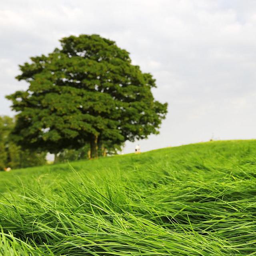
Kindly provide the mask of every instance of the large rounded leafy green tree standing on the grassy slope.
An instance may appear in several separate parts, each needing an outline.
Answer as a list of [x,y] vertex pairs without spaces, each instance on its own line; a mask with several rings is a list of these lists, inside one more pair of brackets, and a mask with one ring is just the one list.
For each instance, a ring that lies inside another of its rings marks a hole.
[[16,78],[29,88],[6,96],[19,112],[13,135],[20,145],[57,153],[89,142],[93,158],[104,141],[158,133],[167,104],[154,100],[154,78],[132,65],[126,50],[98,35],[60,42],[21,65]]

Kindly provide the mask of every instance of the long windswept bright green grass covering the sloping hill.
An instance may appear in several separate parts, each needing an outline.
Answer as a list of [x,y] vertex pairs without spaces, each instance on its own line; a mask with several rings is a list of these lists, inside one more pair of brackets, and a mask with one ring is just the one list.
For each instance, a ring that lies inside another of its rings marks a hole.
[[256,140],[0,172],[0,255],[256,255]]

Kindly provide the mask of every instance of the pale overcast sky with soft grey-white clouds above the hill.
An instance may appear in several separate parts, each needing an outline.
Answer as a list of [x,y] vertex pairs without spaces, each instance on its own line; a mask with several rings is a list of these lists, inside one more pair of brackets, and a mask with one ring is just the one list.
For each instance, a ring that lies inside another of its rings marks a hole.
[[[100,34],[151,72],[168,102],[160,134],[142,151],[214,139],[256,138],[256,1],[1,0],[0,115],[26,90],[18,64],[64,36]],[[126,143],[124,152],[133,152]]]

